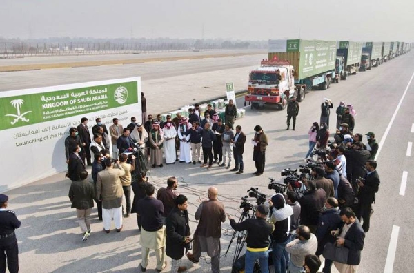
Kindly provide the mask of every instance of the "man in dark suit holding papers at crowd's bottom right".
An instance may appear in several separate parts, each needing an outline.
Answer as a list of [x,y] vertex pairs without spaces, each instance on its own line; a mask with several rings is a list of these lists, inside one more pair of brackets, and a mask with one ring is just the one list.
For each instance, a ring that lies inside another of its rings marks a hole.
[[339,272],[357,272],[361,262],[361,250],[364,247],[365,232],[351,208],[344,208],[339,213],[342,222],[337,230],[331,234],[338,236],[337,246],[348,248],[348,261],[345,263],[333,262]]

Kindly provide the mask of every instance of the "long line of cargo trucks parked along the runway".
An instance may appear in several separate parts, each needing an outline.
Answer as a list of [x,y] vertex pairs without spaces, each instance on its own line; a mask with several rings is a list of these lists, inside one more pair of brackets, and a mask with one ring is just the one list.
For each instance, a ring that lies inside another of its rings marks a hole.
[[284,110],[292,97],[303,101],[313,88],[326,90],[409,51],[411,43],[404,42],[269,40],[268,59],[250,72],[244,103],[251,108],[275,104]]

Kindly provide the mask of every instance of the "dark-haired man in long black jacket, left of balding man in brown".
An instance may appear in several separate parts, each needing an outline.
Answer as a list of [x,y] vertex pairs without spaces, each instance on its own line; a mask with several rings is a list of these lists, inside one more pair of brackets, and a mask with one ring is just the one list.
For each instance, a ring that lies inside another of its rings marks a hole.
[[184,256],[184,249],[190,243],[190,227],[188,225],[187,197],[180,194],[175,199],[175,208],[166,219],[166,254],[171,257],[171,272],[184,272],[186,266],[179,266]]

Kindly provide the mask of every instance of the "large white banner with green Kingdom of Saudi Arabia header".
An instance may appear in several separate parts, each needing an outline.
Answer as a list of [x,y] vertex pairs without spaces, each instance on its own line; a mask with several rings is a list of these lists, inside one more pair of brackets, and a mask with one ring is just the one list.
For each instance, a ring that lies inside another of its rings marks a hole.
[[0,92],[0,117],[5,192],[66,171],[64,141],[82,117],[88,118],[91,138],[98,117],[108,130],[115,117],[124,127],[130,117],[141,121],[141,78]]

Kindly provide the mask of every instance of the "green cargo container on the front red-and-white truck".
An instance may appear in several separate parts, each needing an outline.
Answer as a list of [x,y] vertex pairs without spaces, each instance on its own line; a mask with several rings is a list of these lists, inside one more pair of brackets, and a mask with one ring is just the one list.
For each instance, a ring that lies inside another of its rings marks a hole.
[[336,41],[293,39],[268,43],[268,60],[288,61],[295,68],[295,80],[335,70],[335,59]]

